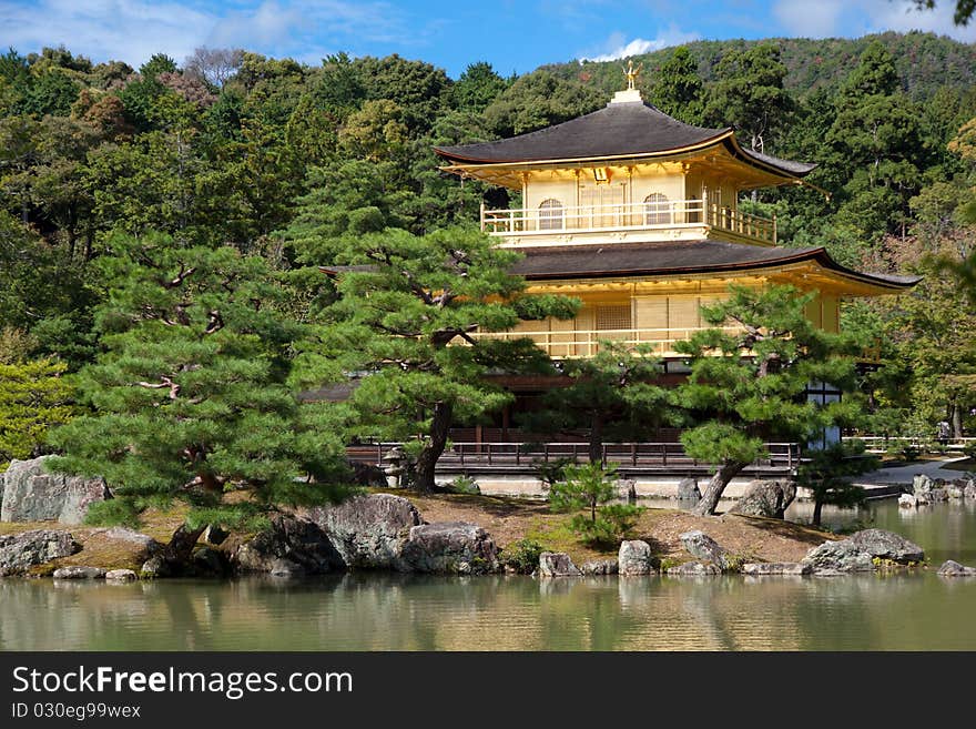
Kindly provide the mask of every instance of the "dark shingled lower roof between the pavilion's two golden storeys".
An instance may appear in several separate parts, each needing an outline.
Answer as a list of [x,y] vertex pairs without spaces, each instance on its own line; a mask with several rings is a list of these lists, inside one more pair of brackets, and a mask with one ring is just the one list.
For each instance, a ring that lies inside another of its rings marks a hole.
[[511,273],[528,281],[748,271],[810,260],[887,287],[906,287],[922,280],[845,269],[823,247],[760,247],[714,240],[535,247],[522,252],[526,257],[516,263]]

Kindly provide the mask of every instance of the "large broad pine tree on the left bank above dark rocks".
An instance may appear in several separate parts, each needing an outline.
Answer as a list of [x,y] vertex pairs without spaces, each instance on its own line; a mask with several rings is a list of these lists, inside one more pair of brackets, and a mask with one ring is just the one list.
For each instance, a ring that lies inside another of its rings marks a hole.
[[263,260],[162,237],[111,246],[99,260],[103,352],[79,374],[94,414],[52,437],[65,453],[54,468],[104,476],[115,495],[90,517],[134,523],[185,502],[192,544],[210,523],[253,525],[278,506],[338,498],[335,408],[295,396],[304,330],[276,308],[285,292]]

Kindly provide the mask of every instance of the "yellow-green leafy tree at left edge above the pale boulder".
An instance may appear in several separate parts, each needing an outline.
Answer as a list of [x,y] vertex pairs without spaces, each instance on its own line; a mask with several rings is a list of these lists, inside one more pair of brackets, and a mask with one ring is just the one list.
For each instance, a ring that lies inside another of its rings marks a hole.
[[0,470],[12,458],[43,453],[49,431],[74,415],[74,389],[64,372],[62,363],[0,352]]

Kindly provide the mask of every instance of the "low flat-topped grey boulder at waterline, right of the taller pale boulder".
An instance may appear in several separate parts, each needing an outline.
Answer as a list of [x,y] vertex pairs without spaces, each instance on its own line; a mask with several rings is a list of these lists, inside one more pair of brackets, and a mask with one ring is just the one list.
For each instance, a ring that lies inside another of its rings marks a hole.
[[421,524],[410,529],[403,557],[418,573],[478,575],[498,571],[498,548],[481,527],[464,522]]

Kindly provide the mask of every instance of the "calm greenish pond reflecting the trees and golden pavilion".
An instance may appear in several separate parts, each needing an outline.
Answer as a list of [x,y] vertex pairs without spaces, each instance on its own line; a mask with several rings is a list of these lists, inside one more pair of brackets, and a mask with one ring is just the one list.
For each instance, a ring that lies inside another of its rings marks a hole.
[[[807,504],[791,509],[809,518]],[[0,580],[2,650],[976,650],[976,503],[827,512],[931,568],[832,578]]]

